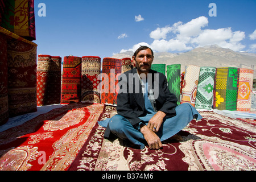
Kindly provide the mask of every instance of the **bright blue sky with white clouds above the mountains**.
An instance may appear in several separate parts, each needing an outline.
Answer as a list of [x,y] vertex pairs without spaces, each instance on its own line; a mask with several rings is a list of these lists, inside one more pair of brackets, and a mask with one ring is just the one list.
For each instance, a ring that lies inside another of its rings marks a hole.
[[101,59],[143,43],[155,52],[218,44],[256,53],[255,9],[255,0],[35,0],[35,43],[40,54]]

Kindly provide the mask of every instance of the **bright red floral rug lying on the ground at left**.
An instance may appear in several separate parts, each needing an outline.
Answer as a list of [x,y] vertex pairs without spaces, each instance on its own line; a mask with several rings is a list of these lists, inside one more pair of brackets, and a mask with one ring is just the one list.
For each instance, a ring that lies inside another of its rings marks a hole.
[[73,103],[0,133],[0,170],[64,171],[104,109]]

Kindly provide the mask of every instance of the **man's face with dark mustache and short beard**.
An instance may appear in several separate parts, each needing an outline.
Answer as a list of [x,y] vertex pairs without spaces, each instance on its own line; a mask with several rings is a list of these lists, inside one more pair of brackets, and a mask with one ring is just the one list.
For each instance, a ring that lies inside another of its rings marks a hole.
[[151,68],[154,56],[150,49],[139,51],[137,56],[133,56],[133,61],[136,62],[137,69],[140,73],[148,72]]

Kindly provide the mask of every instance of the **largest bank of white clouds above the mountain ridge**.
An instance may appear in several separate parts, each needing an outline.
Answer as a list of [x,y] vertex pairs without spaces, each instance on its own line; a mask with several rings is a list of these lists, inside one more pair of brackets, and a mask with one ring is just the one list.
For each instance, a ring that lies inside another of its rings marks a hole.
[[[176,22],[172,26],[158,27],[150,32],[150,38],[154,39],[150,46],[158,52],[189,51],[196,47],[214,44],[233,51],[242,51],[245,48],[241,44],[241,40],[245,39],[245,32],[232,31],[230,27],[205,29],[207,26],[208,18],[200,16],[187,23]],[[250,35],[250,39],[256,39],[256,30]],[[135,51],[136,45],[129,51]]]

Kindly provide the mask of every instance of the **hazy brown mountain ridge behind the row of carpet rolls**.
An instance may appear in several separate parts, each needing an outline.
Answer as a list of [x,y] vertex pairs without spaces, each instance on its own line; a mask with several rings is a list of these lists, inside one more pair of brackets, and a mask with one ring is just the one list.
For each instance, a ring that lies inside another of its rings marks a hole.
[[[112,57],[122,59],[132,56],[133,51],[127,51],[117,53]],[[254,69],[254,78],[256,78],[256,53],[235,52],[217,45],[197,47],[191,51],[180,53],[156,52],[153,64],[181,64],[181,72],[187,65],[249,68]]]

